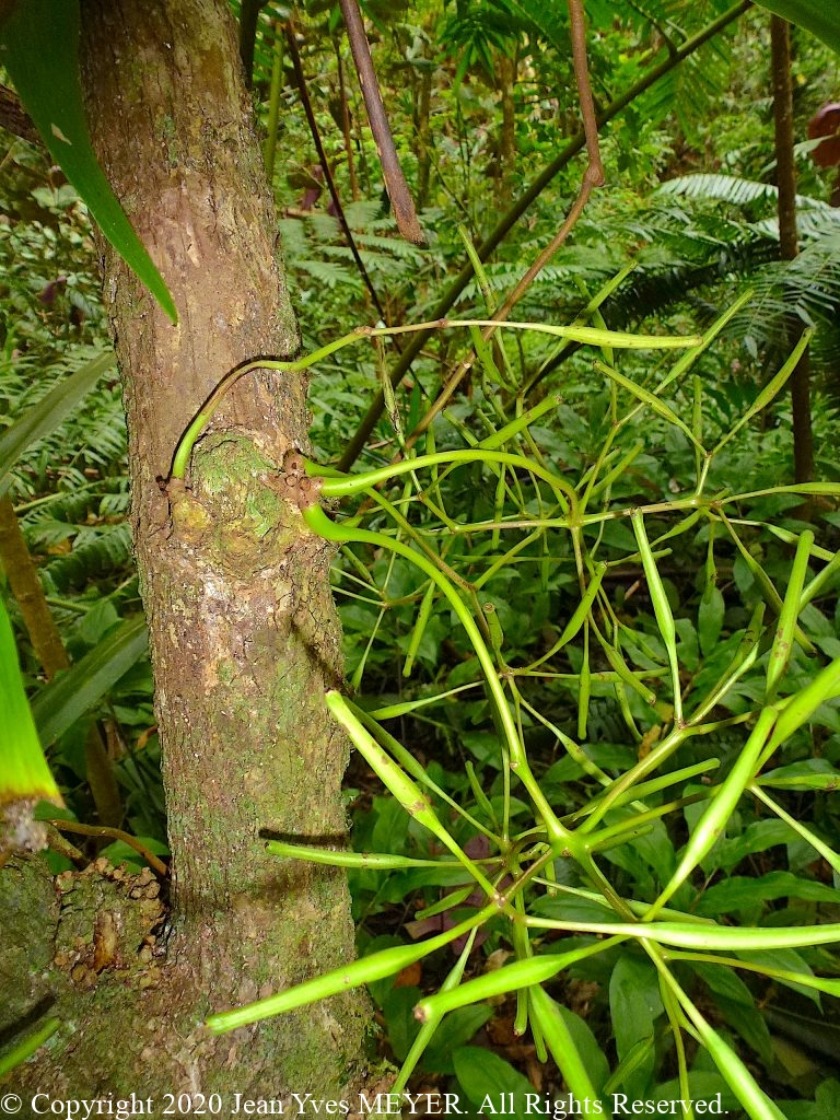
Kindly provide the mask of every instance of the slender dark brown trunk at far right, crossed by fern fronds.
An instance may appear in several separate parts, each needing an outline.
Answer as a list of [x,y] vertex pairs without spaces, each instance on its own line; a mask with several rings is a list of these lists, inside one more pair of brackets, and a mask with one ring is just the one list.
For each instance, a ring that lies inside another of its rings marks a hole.
[[[792,261],[799,253],[796,230],[796,167],[793,156],[793,86],[791,84],[791,25],[780,16],[771,16],[773,54],[773,123],[776,149],[776,186],[778,187],[778,242],[782,260]],[[804,327],[796,316],[788,319],[791,348]],[[808,351],[791,375],[791,409],[793,412],[794,478],[811,482],[814,475],[814,442],[811,430],[811,386]]]

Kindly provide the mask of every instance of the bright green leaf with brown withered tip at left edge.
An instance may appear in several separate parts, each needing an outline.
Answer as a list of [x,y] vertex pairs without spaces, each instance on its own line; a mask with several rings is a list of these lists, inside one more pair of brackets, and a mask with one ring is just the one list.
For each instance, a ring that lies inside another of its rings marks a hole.
[[2,711],[2,781],[0,802],[54,801],[62,795],[49,772],[20,676],[18,651],[9,616],[0,599],[0,711]]

